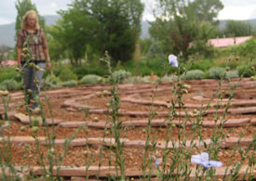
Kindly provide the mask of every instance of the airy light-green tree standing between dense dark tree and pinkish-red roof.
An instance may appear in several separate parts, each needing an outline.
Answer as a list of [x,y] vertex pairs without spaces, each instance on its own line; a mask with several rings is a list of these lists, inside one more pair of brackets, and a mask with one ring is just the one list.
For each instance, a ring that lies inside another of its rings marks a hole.
[[[222,9],[220,0],[158,0],[160,14],[152,23],[151,35],[164,52],[187,58],[192,46],[207,44],[214,32],[214,18]],[[208,9],[208,10],[207,10]]]

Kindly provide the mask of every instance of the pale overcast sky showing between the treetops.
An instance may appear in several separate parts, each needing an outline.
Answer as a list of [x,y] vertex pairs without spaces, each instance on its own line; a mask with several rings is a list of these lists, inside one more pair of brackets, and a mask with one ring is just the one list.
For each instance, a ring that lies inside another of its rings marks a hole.
[[[152,8],[155,0],[141,0],[145,3],[143,19],[153,19]],[[0,0],[0,24],[15,21],[17,0]],[[67,9],[72,0],[32,0],[40,15],[56,15],[56,11]],[[256,0],[222,0],[224,8],[218,19],[256,19]]]

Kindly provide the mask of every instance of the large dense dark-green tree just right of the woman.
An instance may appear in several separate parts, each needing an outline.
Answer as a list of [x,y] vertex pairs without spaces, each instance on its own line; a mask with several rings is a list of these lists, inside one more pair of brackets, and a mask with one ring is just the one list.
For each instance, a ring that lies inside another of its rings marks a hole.
[[88,53],[103,54],[126,61],[132,58],[141,32],[141,0],[74,0],[68,10],[60,11],[62,20],[51,33],[65,43],[72,62]]

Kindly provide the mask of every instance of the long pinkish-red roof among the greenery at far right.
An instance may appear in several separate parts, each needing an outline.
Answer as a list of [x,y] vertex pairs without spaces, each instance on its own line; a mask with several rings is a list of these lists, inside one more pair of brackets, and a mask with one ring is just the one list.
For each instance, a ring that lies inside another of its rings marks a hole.
[[252,36],[209,39],[209,44],[215,47],[227,47],[229,45],[239,45],[245,43],[251,38]]

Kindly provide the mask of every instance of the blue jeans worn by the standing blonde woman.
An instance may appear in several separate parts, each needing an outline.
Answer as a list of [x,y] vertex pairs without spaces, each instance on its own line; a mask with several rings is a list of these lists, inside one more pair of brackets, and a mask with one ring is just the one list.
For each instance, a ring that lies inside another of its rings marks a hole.
[[[45,70],[46,63],[45,62],[39,62],[35,63],[36,66],[38,66],[40,69]],[[34,68],[30,66],[26,66],[23,69],[24,71],[24,85],[25,85],[25,102],[29,105],[31,104],[31,100],[34,100],[34,104],[32,108],[37,107],[37,103],[39,102],[40,97],[40,88],[41,88],[41,82],[42,78],[44,76],[44,71],[35,71]],[[31,91],[28,91],[28,90]],[[38,97],[38,100],[36,100],[35,97]]]

